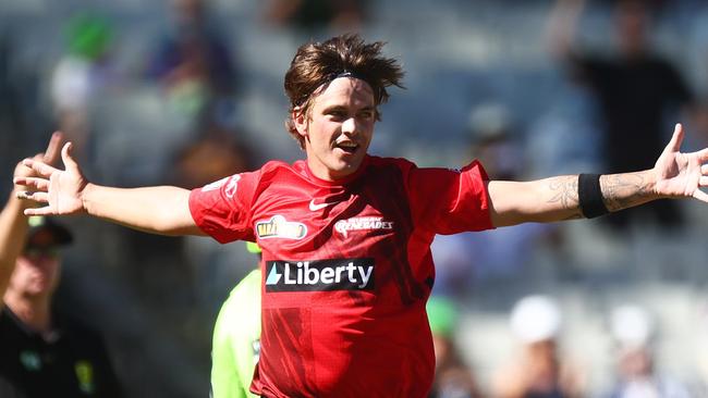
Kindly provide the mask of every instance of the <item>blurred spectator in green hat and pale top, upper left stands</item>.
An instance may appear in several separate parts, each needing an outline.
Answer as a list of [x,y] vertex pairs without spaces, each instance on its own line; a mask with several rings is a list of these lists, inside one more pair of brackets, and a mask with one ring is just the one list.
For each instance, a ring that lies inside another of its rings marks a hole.
[[53,70],[51,99],[61,129],[83,157],[89,139],[91,101],[115,78],[110,62],[113,29],[108,20],[90,13],[64,26],[66,52]]

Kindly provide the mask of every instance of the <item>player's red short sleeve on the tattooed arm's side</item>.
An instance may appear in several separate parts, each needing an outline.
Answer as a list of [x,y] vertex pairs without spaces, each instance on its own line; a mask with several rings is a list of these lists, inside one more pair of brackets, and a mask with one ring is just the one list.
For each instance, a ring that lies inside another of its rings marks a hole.
[[478,161],[462,170],[417,169],[408,174],[414,223],[434,234],[493,228],[487,173]]

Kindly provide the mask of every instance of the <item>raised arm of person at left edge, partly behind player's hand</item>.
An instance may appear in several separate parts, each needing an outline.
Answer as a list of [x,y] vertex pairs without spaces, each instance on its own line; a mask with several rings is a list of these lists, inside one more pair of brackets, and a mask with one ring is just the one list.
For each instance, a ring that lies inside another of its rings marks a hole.
[[[59,158],[59,148],[61,146],[62,135],[54,133],[49,140],[49,146],[44,154],[37,154],[35,160],[45,161],[49,164]],[[16,177],[34,177],[36,173],[19,163],[15,166],[14,175]],[[23,187],[15,185],[5,207],[0,212],[0,308],[4,304],[4,296],[10,283],[10,275],[15,268],[15,261],[25,246],[27,236],[27,216],[25,210],[33,206],[29,201],[20,200],[17,195],[24,190]]]

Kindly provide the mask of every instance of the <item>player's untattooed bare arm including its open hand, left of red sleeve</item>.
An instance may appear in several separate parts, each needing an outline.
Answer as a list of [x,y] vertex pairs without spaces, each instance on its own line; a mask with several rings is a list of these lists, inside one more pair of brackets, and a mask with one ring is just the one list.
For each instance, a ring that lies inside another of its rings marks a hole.
[[19,194],[46,204],[25,210],[27,215],[89,214],[135,229],[160,235],[204,235],[188,208],[187,189],[159,186],[112,188],[91,184],[71,156],[71,142],[61,150],[65,170],[33,159],[23,163],[37,177],[15,176],[17,185],[32,191]]

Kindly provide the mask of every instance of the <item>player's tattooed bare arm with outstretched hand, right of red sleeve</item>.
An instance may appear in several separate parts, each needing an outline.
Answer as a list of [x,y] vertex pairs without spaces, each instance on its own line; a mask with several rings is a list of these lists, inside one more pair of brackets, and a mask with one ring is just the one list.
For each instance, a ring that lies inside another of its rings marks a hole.
[[676,124],[671,141],[654,169],[601,175],[595,196],[587,185],[584,187],[587,194],[578,195],[578,175],[526,183],[488,182],[492,224],[505,226],[585,217],[591,215],[586,214],[588,204],[590,210],[598,208],[599,203],[591,202],[594,198],[601,200],[611,212],[655,199],[695,198],[708,202],[708,195],[700,190],[708,187],[708,148],[682,153],[683,136],[683,127]]

